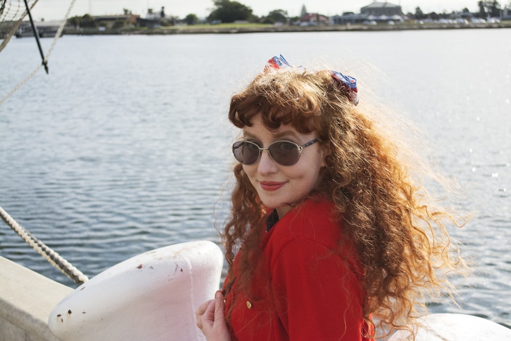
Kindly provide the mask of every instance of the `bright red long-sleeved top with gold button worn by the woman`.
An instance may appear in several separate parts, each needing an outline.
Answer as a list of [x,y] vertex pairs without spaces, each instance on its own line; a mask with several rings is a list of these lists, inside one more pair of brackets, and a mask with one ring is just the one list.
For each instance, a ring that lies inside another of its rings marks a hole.
[[[308,200],[261,240],[250,297],[236,282],[226,297],[233,340],[368,341],[362,313],[362,267],[333,204]],[[236,274],[236,261],[235,261]]]

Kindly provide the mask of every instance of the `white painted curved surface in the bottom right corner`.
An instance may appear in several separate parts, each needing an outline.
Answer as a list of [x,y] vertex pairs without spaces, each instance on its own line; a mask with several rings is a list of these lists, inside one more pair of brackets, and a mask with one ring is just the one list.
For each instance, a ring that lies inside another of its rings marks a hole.
[[[505,341],[511,340],[511,329],[481,317],[465,314],[431,314],[423,317],[415,341]],[[400,330],[388,341],[411,341],[408,332]]]

